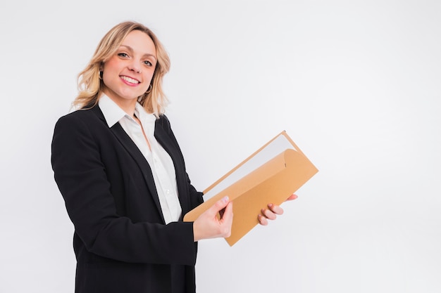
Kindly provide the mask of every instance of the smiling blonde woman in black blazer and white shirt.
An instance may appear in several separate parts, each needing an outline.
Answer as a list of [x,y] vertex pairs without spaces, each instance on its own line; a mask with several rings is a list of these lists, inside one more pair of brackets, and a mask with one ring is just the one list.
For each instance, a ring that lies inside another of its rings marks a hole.
[[[163,115],[169,67],[151,30],[120,23],[79,74],[80,110],[56,123],[51,162],[75,226],[77,293],[195,292],[197,241],[230,235],[228,197],[182,221],[203,200]],[[276,214],[268,205],[259,221]]]

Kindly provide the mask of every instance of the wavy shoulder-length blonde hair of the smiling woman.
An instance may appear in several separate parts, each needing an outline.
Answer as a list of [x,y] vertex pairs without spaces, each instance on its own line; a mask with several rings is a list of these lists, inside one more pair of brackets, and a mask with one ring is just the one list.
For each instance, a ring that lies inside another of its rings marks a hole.
[[139,96],[138,101],[147,112],[154,113],[156,117],[163,114],[168,100],[162,89],[162,80],[170,69],[170,58],[159,39],[148,27],[131,21],[121,22],[109,30],[99,42],[89,64],[78,74],[79,93],[73,101],[75,108],[92,108],[97,105],[102,93],[102,85],[104,85],[99,77],[100,68],[116,53],[125,37],[134,30],[144,32],[151,38],[156,47],[157,57],[155,71],[151,79],[151,91]]

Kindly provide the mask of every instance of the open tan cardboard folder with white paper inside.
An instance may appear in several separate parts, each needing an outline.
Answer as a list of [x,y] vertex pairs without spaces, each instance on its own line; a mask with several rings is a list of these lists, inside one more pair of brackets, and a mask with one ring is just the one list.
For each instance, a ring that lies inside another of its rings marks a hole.
[[268,141],[230,172],[204,190],[203,204],[184,216],[194,221],[216,201],[228,195],[233,204],[230,246],[259,223],[257,216],[267,204],[282,204],[318,169],[292,141],[286,131]]

